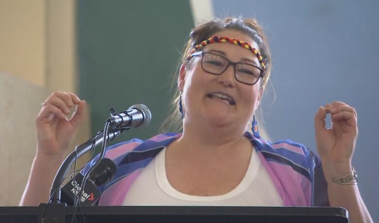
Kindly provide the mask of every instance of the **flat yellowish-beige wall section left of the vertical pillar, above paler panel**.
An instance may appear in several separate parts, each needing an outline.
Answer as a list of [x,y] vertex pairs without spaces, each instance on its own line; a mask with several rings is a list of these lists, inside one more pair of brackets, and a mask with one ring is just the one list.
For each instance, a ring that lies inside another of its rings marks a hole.
[[45,0],[0,0],[0,70],[45,86]]

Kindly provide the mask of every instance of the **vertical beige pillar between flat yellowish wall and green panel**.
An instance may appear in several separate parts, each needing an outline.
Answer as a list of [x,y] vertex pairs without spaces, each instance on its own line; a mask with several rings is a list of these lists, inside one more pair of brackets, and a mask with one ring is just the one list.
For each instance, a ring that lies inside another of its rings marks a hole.
[[46,86],[77,92],[75,0],[47,0]]

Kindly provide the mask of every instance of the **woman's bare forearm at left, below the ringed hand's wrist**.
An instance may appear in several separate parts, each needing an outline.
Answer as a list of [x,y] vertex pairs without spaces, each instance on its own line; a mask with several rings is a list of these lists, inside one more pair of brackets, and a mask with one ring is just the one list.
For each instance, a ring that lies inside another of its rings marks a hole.
[[22,194],[20,206],[38,206],[49,199],[50,189],[55,173],[58,171],[63,156],[45,156],[37,154],[34,157],[29,180]]

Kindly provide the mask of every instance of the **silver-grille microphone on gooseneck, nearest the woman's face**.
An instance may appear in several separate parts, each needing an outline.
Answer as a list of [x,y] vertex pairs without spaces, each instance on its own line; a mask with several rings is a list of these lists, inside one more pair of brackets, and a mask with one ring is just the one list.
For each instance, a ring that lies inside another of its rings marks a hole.
[[108,119],[109,128],[114,127],[136,127],[145,128],[151,121],[151,112],[143,104],[132,105],[128,110],[119,114],[115,113]]

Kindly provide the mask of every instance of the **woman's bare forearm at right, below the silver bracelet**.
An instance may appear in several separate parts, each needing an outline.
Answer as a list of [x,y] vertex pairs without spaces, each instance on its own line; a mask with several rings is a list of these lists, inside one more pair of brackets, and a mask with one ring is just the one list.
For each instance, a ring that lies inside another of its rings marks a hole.
[[350,223],[372,223],[357,185],[329,183],[327,187],[330,206],[344,207],[349,212]]

